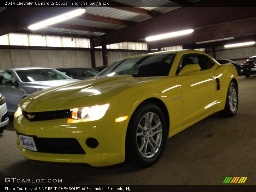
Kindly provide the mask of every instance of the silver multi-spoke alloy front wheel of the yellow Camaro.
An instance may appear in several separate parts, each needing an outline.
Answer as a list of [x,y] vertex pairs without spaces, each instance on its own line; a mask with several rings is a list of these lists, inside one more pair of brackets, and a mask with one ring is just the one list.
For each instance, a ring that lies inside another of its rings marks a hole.
[[153,113],[146,113],[137,127],[136,139],[140,154],[151,158],[158,152],[163,138],[163,129],[159,117]]

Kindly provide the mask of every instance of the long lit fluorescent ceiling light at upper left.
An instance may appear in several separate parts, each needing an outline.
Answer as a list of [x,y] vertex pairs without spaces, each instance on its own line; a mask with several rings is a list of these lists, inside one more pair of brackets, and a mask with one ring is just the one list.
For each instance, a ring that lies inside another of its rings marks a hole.
[[36,30],[36,29],[39,29],[39,28],[43,28],[43,27],[52,25],[54,23],[58,23],[58,22],[61,22],[61,21],[71,19],[73,17],[76,17],[78,15],[83,14],[84,12],[85,12],[85,9],[77,9],[75,11],[67,12],[67,13],[61,14],[59,16],[52,17],[50,19],[40,21],[38,23],[30,25],[28,28],[31,29],[31,30]]

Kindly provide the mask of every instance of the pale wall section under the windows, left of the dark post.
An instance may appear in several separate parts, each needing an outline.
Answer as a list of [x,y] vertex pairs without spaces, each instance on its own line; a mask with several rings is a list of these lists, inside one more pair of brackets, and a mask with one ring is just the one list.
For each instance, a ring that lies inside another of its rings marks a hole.
[[91,67],[90,51],[0,49],[2,69]]

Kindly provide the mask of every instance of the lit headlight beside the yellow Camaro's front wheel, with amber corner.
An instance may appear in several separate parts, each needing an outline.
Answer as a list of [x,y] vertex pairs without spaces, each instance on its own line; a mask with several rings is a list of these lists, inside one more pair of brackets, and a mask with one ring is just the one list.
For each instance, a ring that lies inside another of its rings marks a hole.
[[109,104],[71,109],[73,123],[99,120],[105,115],[108,107]]

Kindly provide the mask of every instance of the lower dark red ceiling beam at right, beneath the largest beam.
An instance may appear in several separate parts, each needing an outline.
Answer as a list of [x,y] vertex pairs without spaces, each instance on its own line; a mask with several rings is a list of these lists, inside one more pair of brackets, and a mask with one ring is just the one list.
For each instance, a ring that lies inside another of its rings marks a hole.
[[[256,17],[246,20],[238,20],[229,23],[223,23],[219,25],[209,26],[202,29],[194,31],[188,36],[180,36],[176,38],[170,38],[161,40],[158,42],[151,42],[150,48],[155,49],[158,47],[170,47],[175,45],[184,45],[184,44],[195,44],[196,42],[209,41],[214,39],[222,39],[228,37],[235,37],[235,40],[243,36],[253,36],[256,35]],[[222,43],[232,42],[230,41],[221,41]],[[220,42],[214,42],[215,44]],[[214,44],[212,43],[212,44]],[[195,47],[205,47],[206,44],[196,44]]]

